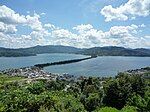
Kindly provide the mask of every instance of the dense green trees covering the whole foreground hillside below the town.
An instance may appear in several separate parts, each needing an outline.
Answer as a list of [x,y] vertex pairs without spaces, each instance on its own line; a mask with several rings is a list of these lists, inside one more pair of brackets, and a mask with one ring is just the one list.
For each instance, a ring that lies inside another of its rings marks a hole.
[[[146,73],[149,76],[149,73]],[[0,112],[149,112],[150,79],[113,78],[29,81],[0,75]]]

